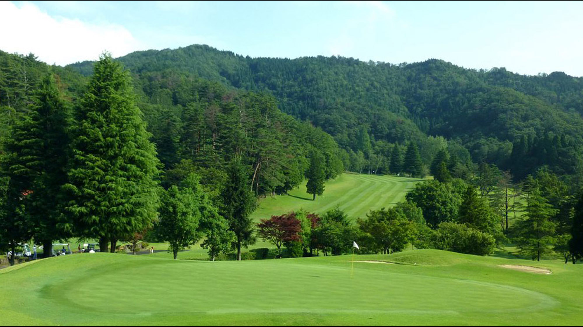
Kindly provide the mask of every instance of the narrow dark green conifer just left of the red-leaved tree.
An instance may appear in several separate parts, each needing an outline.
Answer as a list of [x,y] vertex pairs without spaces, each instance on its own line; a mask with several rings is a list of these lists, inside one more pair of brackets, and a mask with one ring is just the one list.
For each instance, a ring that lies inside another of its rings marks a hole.
[[257,198],[251,191],[245,166],[238,159],[230,163],[227,176],[220,214],[229,221],[229,229],[235,234],[232,246],[237,249],[237,260],[241,260],[241,247],[255,243],[255,224],[249,215],[257,208]]

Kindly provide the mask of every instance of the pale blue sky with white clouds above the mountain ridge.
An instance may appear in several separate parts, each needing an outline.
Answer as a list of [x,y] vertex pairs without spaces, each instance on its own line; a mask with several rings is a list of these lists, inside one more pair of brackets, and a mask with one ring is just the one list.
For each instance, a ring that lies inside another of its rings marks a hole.
[[49,64],[207,44],[252,57],[436,58],[583,76],[583,2],[0,1],[0,50]]

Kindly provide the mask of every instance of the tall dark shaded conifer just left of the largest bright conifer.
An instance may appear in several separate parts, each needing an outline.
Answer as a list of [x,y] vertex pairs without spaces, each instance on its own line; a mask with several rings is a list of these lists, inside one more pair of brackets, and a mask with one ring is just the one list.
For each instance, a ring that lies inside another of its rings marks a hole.
[[34,104],[12,127],[12,138],[6,144],[5,174],[11,197],[6,204],[12,205],[7,212],[12,218],[19,217],[18,225],[29,226],[24,234],[32,233],[35,241],[43,243],[44,257],[52,253],[52,240],[70,236],[61,214],[70,122],[69,106],[48,73]]

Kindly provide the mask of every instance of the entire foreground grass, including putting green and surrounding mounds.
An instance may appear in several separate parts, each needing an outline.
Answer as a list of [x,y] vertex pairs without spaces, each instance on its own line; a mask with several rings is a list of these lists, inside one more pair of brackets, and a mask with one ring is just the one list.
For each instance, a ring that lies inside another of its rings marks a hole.
[[437,250],[265,261],[78,254],[0,273],[2,325],[580,325],[583,265]]

